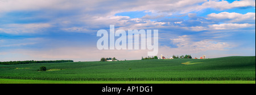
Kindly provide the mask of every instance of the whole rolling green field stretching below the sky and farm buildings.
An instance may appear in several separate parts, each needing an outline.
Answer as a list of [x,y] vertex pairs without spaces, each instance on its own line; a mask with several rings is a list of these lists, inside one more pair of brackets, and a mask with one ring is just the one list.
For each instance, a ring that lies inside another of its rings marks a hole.
[[[41,66],[46,66],[48,70],[44,72],[38,71]],[[232,56],[216,59],[152,59],[0,65],[0,79],[0,83],[11,83],[12,81],[15,83],[33,83],[32,81],[40,83],[40,80],[42,80],[41,83],[47,82],[50,84],[255,84],[255,56]]]

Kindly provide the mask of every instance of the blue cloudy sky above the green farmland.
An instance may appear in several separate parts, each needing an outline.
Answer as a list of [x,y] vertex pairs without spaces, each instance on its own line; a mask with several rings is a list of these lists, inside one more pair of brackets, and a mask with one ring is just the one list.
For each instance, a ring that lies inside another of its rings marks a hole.
[[97,49],[110,25],[158,30],[157,56],[255,56],[255,0],[0,0],[0,61],[147,57]]

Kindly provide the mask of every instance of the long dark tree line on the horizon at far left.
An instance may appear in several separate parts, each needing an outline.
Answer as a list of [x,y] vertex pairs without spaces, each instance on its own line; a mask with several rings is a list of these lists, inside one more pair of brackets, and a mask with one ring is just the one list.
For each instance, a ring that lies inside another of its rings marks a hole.
[[31,64],[31,63],[67,63],[67,62],[74,62],[73,60],[43,60],[43,61],[34,61],[34,60],[27,60],[27,61],[3,61],[0,64],[11,65],[11,64]]

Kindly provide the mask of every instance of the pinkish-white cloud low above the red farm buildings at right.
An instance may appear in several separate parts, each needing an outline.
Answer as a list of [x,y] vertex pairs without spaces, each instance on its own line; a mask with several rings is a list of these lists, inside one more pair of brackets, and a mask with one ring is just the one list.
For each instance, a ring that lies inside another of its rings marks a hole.
[[[175,55],[182,53],[198,53],[209,50],[218,50],[223,51],[227,50],[225,48],[232,47],[230,44],[225,42],[217,42],[215,40],[204,39],[195,41],[195,38],[189,35],[178,36],[178,38],[170,39],[172,43],[176,44],[177,48],[169,48],[169,47],[160,47],[166,52],[171,52]],[[159,51],[159,53],[164,53],[163,51]],[[170,55],[170,54],[169,54]]]

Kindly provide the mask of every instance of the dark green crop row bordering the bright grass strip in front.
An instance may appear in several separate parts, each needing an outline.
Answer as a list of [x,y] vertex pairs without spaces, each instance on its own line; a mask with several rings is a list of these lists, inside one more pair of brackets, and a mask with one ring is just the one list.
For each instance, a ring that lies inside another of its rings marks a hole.
[[0,77],[0,79],[51,80],[51,81],[255,81],[255,77],[175,77],[175,78],[82,78],[82,77]]

